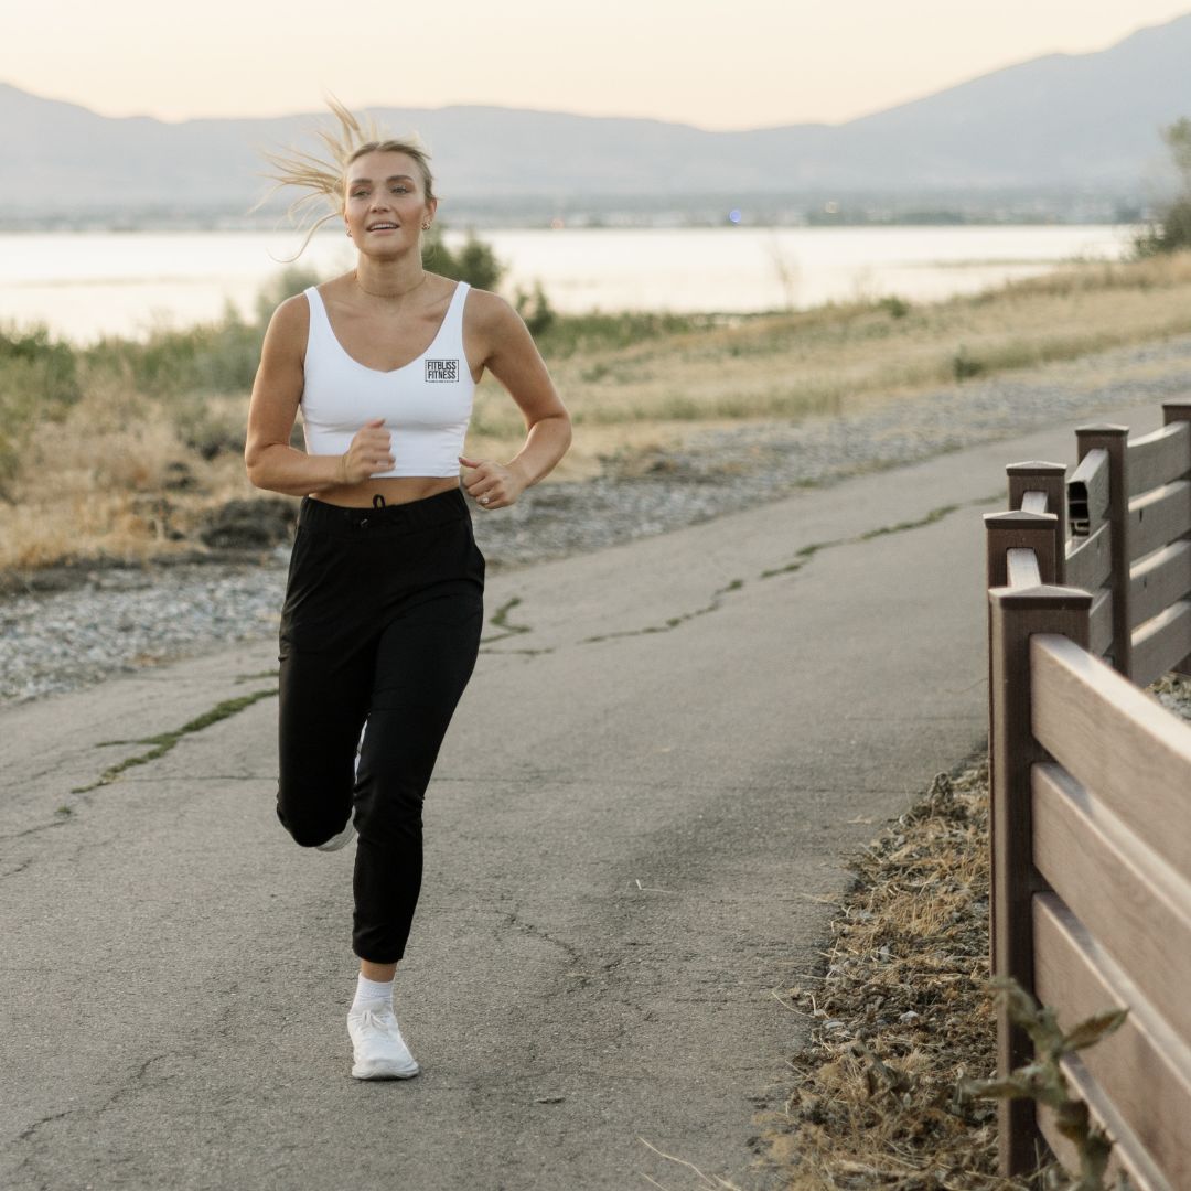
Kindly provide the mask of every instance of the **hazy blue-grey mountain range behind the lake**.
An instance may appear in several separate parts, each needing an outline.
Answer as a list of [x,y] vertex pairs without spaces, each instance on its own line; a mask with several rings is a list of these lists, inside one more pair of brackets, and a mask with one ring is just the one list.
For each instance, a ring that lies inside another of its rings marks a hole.
[[[1065,195],[1143,207],[1166,158],[1160,130],[1191,116],[1191,13],[838,125],[713,132],[481,106],[373,114],[422,135],[439,192],[468,211],[678,210],[706,197],[904,207]],[[266,189],[260,150],[311,148],[324,119],[111,118],[0,83],[0,219],[242,217]]]

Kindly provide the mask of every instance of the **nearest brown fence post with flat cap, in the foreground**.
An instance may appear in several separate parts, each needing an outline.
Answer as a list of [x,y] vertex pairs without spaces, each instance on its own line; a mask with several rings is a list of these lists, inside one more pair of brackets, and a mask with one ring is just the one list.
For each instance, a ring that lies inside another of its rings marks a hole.
[[[1031,902],[1045,888],[1034,868],[1030,772],[1047,754],[1034,740],[1030,699],[1030,637],[1059,632],[1087,648],[1092,597],[1074,587],[1009,587],[989,592],[990,643],[990,930],[992,971],[1034,989]],[[1004,1008],[997,1016],[997,1074],[1008,1075],[1031,1058],[1029,1036]],[[1033,1100],[999,1102],[1003,1174],[1036,1168],[1040,1134]]]

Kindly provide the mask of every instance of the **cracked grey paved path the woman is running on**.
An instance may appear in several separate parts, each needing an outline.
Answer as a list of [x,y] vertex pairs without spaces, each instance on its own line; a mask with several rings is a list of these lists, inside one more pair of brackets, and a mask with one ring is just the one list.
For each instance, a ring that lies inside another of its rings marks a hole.
[[813,968],[841,858],[980,744],[979,515],[1006,462],[1073,450],[494,580],[426,802],[409,1084],[348,1073],[351,858],[276,824],[275,700],[176,734],[267,692],[272,642],[0,713],[0,1185],[698,1184],[650,1146],[763,1185],[750,1118],[803,1028],[771,990]]

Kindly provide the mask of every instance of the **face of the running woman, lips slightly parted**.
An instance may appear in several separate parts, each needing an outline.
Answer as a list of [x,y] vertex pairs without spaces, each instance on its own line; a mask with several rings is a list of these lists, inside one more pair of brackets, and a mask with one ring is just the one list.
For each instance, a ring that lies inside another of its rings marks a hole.
[[417,245],[437,199],[426,202],[418,163],[404,152],[369,152],[348,167],[343,218],[362,252],[389,252]]

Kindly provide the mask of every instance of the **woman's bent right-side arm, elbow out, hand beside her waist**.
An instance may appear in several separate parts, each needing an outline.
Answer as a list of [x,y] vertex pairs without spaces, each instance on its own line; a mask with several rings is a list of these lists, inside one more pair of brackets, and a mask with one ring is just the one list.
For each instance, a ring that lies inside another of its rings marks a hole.
[[485,347],[484,366],[517,403],[525,418],[525,443],[507,463],[460,456],[473,468],[464,476],[468,493],[484,509],[513,504],[531,484],[549,475],[570,445],[570,416],[550,380],[545,362],[522,317],[503,298],[473,291],[476,330]]

